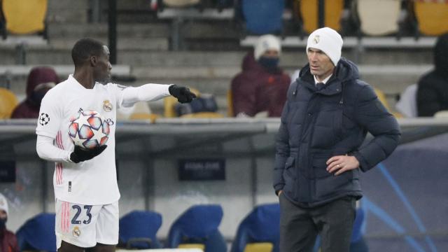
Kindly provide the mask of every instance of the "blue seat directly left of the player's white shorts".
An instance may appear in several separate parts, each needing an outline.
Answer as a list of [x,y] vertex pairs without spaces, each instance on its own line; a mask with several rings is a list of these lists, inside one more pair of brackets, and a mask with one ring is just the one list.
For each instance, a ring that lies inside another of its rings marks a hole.
[[56,251],[55,214],[38,214],[16,232],[20,251]]

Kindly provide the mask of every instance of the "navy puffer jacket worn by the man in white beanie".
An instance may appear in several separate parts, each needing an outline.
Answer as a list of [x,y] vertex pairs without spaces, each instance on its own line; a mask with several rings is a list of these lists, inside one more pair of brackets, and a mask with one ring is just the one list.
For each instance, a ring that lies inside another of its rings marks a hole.
[[[325,162],[353,155],[366,172],[398,145],[397,121],[358,78],[355,64],[341,58],[323,89],[316,89],[309,65],[290,85],[276,136],[274,189],[295,204],[316,207],[346,195],[360,198],[359,169],[334,176]],[[374,138],[361,147],[367,132]]]

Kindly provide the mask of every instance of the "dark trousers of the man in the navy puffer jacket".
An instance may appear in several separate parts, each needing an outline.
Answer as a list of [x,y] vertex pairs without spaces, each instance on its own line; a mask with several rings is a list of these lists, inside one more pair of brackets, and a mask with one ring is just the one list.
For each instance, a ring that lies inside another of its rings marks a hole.
[[280,197],[280,252],[311,252],[321,235],[322,252],[349,252],[356,200],[343,197],[320,207],[302,208]]

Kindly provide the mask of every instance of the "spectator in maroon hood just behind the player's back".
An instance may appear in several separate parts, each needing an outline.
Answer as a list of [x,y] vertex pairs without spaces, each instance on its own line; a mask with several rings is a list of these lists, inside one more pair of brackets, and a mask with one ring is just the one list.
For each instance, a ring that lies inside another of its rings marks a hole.
[[27,80],[27,99],[18,104],[11,118],[38,118],[43,96],[59,83],[54,69],[36,66],[29,72]]

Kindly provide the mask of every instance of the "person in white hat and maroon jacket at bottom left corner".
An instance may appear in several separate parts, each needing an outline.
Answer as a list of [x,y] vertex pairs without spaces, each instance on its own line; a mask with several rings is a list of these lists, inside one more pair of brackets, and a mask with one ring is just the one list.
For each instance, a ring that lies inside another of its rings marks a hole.
[[8,221],[8,201],[0,193],[0,249],[2,252],[18,252],[17,238],[13,232],[6,229]]

